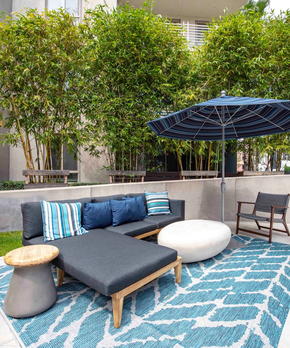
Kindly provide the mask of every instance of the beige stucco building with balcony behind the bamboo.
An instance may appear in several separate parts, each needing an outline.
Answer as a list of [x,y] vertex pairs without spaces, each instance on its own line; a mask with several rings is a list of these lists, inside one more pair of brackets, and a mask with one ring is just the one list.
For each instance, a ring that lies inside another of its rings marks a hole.
[[[94,8],[97,5],[106,5],[109,9],[116,6],[124,6],[126,3],[134,7],[142,6],[143,0],[1,0],[0,12],[4,11],[8,16],[14,12],[21,12],[22,8],[36,8],[39,12],[45,9],[66,8],[78,21],[81,21],[86,8]],[[246,0],[155,0],[154,11],[162,17],[171,19],[180,26],[180,30],[189,42],[189,46],[201,45],[203,31],[207,30],[206,23],[213,17],[227,11],[234,12],[245,5]],[[7,132],[1,128],[0,133]],[[106,165],[104,158],[91,157],[83,149],[79,149],[80,158],[74,163],[72,158],[63,150],[63,169],[73,171],[71,181],[78,182],[109,182],[109,176],[103,169]],[[166,159],[166,157],[165,157]],[[167,161],[169,163],[169,160]],[[19,147],[0,147],[0,182],[3,180],[23,180],[22,170],[26,168],[23,149]],[[167,163],[166,163],[167,165]],[[165,167],[166,167],[165,165]],[[165,168],[166,170],[166,168]]]

